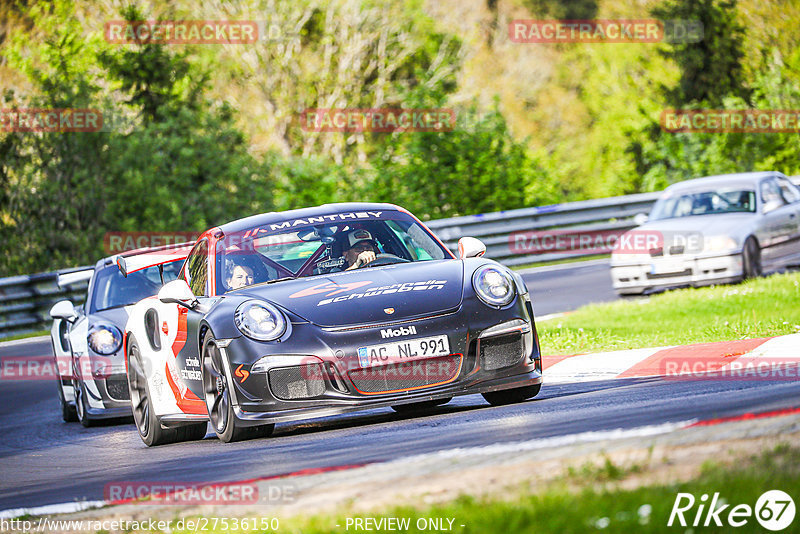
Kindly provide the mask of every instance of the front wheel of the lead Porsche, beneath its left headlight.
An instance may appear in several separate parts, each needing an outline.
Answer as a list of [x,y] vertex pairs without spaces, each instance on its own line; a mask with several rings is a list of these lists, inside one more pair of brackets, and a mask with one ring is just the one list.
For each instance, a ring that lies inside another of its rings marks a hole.
[[203,398],[208,410],[211,428],[220,441],[230,443],[246,439],[264,438],[272,434],[274,424],[242,426],[233,411],[230,381],[222,361],[222,352],[209,332],[203,341]]

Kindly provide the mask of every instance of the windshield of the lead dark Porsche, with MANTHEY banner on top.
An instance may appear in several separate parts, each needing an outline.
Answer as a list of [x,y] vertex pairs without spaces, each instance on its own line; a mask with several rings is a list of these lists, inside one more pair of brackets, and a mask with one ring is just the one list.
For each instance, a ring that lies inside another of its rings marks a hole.
[[[450,257],[412,217],[378,213],[354,221],[269,224],[225,236],[217,243],[217,287],[226,292],[281,279]],[[369,262],[358,262],[362,253],[372,253],[364,256]]]

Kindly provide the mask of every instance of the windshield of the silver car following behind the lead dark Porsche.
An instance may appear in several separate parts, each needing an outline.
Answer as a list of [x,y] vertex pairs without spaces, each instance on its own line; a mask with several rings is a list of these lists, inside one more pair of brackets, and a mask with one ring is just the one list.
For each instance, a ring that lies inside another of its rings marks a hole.
[[[175,280],[182,265],[183,259],[165,263],[164,283]],[[116,265],[109,265],[95,274],[91,313],[136,304],[155,295],[160,288],[161,275],[157,266],[130,273],[125,278]]]

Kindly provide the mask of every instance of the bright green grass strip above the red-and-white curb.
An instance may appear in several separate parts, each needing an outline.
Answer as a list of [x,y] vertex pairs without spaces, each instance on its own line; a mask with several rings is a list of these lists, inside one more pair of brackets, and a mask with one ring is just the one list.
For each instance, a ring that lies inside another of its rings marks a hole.
[[538,325],[543,354],[687,345],[800,332],[800,273],[592,304]]

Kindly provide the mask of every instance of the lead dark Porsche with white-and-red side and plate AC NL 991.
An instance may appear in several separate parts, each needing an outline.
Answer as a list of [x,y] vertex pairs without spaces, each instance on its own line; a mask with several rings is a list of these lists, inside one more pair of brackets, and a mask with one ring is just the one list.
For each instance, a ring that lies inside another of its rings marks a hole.
[[134,419],[147,445],[234,441],[276,422],[398,411],[542,382],[522,278],[462,238],[459,258],[391,204],[266,213],[203,233],[181,276],[125,328]]

